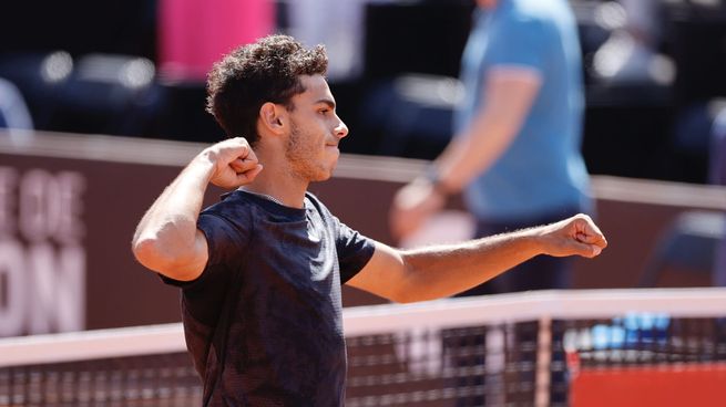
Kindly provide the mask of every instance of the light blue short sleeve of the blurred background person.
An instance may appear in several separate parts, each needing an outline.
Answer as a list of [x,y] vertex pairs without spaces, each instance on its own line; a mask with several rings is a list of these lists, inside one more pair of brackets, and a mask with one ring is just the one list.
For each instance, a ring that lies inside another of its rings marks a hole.
[[542,71],[551,43],[551,32],[542,21],[523,15],[508,15],[490,33],[489,66],[524,65]]

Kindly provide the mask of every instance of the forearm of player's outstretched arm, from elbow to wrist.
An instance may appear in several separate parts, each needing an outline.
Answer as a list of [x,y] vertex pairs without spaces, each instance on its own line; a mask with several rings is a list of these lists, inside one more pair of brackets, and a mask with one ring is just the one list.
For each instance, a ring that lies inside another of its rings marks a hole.
[[450,296],[543,253],[535,229],[402,252],[408,268],[405,302]]

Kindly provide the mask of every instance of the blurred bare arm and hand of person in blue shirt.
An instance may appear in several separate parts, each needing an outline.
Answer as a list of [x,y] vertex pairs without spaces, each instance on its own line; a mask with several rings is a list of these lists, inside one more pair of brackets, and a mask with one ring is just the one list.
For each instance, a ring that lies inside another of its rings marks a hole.
[[514,140],[542,83],[538,70],[526,66],[499,66],[487,74],[485,102],[471,124],[453,137],[433,163],[436,185],[419,177],[393,198],[391,231],[401,238],[441,209],[447,195],[459,192],[485,171]]

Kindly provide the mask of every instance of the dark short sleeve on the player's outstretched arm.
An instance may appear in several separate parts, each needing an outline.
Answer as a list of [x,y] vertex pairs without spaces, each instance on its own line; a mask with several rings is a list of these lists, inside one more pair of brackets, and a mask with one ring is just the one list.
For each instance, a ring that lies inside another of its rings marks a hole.
[[336,249],[340,264],[340,284],[345,284],[368,264],[376,251],[376,243],[339,220],[336,219],[336,221],[338,223]]

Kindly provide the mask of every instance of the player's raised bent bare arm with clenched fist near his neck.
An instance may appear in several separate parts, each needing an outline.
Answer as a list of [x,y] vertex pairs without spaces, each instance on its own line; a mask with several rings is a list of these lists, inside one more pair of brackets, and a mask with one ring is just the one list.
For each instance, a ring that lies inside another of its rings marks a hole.
[[208,259],[206,238],[196,227],[208,184],[236,188],[250,182],[260,170],[254,152],[242,137],[204,149],[139,222],[132,241],[136,260],[174,280],[196,279]]

